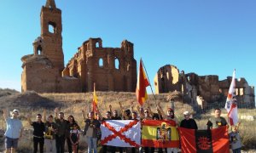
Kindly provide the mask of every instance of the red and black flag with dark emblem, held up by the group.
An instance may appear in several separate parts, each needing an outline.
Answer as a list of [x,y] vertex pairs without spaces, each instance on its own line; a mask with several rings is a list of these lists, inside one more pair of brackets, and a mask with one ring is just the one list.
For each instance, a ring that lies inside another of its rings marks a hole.
[[195,130],[178,127],[183,153],[229,153],[228,127],[211,130]]

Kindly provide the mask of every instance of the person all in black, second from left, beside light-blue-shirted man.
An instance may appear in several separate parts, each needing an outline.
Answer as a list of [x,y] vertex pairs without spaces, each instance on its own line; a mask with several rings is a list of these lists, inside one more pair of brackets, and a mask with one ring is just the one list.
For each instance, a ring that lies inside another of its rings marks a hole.
[[34,153],[38,152],[38,144],[40,153],[44,152],[44,122],[42,122],[41,114],[37,115],[37,121],[32,122],[31,116],[27,116],[27,122],[34,128],[33,131],[33,146],[34,146]]

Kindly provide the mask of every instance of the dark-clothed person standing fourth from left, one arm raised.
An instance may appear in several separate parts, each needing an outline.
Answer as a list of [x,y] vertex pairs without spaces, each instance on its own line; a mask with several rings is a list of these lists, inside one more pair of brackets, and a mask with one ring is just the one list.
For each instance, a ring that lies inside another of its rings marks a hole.
[[57,150],[56,152],[64,153],[65,138],[66,138],[68,124],[67,124],[67,120],[64,119],[64,113],[59,112],[57,108],[55,109],[55,123],[57,125],[57,129],[55,133],[56,150]]

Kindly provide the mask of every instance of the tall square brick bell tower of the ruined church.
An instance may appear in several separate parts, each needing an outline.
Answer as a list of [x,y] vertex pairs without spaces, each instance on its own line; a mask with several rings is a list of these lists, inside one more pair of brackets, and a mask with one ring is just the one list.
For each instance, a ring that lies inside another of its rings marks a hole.
[[56,8],[55,0],[47,0],[41,9],[41,38],[44,42],[42,53],[61,71],[64,69],[62,50],[61,9]]

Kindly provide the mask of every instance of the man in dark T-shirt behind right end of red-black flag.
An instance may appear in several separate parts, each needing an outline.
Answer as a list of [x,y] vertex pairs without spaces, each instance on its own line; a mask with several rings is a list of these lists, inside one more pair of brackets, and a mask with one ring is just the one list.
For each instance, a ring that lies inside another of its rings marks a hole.
[[216,108],[214,110],[214,116],[209,118],[207,122],[207,129],[218,128],[218,127],[223,127],[227,125],[227,122],[224,119],[224,117],[220,115],[221,115],[220,109]]

